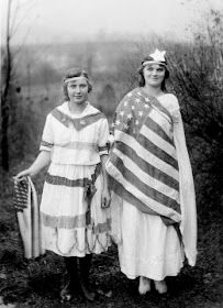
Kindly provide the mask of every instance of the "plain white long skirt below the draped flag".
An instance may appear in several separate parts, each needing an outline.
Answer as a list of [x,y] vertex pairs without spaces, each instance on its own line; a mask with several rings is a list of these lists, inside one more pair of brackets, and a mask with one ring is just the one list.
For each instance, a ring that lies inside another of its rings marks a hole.
[[166,227],[159,216],[141,212],[115,194],[111,216],[121,271],[129,278],[163,280],[180,272],[185,255],[174,227]]

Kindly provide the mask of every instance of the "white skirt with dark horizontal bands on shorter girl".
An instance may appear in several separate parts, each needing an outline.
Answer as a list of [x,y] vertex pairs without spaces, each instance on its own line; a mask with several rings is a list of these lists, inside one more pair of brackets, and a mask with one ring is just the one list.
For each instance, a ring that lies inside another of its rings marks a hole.
[[52,164],[44,184],[41,216],[46,250],[63,256],[85,256],[101,253],[111,245],[110,209],[101,208],[102,174],[94,186],[87,223],[88,204],[85,186],[96,166]]

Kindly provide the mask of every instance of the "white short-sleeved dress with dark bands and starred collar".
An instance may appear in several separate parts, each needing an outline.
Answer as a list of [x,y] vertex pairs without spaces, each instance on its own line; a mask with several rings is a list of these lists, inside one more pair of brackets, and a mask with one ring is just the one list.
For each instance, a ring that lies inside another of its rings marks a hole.
[[105,117],[90,103],[74,116],[68,102],[46,119],[41,151],[51,151],[52,163],[44,184],[41,215],[46,250],[63,256],[101,253],[110,245],[110,210],[101,208],[103,177],[97,176],[90,222],[85,186],[108,154],[109,127]]

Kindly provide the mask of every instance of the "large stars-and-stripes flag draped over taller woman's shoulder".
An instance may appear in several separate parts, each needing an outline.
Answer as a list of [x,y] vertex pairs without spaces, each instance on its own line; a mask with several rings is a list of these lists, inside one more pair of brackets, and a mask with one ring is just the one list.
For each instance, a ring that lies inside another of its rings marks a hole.
[[172,124],[158,99],[134,89],[116,109],[115,142],[107,163],[111,190],[166,224],[181,220]]

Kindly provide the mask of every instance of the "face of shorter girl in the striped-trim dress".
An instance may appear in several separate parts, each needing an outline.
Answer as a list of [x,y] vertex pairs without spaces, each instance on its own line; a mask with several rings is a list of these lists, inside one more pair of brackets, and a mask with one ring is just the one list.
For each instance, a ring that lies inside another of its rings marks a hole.
[[81,105],[88,100],[88,82],[85,77],[77,77],[76,80],[69,81],[67,85],[67,94],[69,100]]

